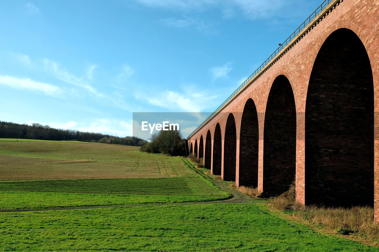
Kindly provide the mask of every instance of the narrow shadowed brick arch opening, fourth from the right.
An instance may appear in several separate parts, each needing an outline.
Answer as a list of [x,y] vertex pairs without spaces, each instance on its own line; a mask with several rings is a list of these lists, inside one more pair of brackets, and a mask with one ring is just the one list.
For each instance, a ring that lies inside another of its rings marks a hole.
[[236,151],[236,122],[233,113],[230,113],[225,126],[223,180],[235,181],[236,179]]

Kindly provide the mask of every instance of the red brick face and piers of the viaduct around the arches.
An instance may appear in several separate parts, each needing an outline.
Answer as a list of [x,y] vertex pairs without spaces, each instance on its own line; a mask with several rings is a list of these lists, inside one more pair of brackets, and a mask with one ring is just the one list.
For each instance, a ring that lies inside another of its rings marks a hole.
[[[337,4],[337,5],[336,5]],[[188,141],[199,142],[200,136],[206,136],[210,131],[213,153],[213,141],[216,124],[220,124],[222,146],[224,146],[226,121],[229,113],[232,113],[236,124],[236,184],[238,185],[239,168],[243,167],[240,160],[240,128],[242,112],[246,101],[251,98],[256,106],[259,126],[258,145],[258,188],[263,190],[263,154],[264,154],[264,126],[265,112],[271,85],[279,75],[284,75],[290,82],[296,106],[296,200],[302,204],[306,202],[305,188],[305,104],[307,101],[308,84],[316,56],[324,41],[334,31],[347,28],[353,31],[362,41],[370,60],[373,87],[374,87],[374,210],[375,218],[379,221],[379,0],[343,0],[330,4],[331,10],[323,16],[315,18],[315,25],[305,30],[304,36],[299,37],[289,48],[285,48],[282,56],[264,70],[258,78],[253,79],[247,88],[225,106],[221,112],[211,118],[198,132],[192,135]],[[306,14],[305,14],[306,15]],[[304,16],[305,16],[304,15]],[[313,23],[313,21],[311,22]],[[335,45],[338,47],[338,44]],[[333,57],[333,51],[330,52]],[[325,62],[328,64],[328,61]],[[342,131],[341,131],[342,132]],[[341,133],[343,134],[343,133]],[[224,173],[224,148],[222,148],[221,173]],[[213,155],[212,155],[213,156]],[[213,157],[211,158],[213,160]],[[211,165],[213,162],[211,162]],[[211,167],[212,169],[213,167]],[[348,174],[347,174],[348,176]]]

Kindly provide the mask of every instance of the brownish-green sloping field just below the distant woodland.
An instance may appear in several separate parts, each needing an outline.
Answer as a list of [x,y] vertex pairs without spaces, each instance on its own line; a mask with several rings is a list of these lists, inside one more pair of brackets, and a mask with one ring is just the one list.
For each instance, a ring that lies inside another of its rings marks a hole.
[[0,142],[0,180],[182,177],[179,157],[82,142]]

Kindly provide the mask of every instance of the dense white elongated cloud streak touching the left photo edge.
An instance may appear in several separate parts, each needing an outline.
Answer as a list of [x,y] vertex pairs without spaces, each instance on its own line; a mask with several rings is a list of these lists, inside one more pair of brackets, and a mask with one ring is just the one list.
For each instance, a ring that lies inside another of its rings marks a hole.
[[61,92],[59,87],[51,84],[11,76],[0,76],[0,85],[8,86],[14,89],[39,91],[51,96],[56,96]]

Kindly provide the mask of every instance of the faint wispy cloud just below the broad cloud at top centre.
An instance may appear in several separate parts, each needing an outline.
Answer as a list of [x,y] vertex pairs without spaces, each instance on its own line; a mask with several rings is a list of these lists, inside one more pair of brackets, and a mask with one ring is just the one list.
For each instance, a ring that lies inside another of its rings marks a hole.
[[173,28],[193,27],[195,30],[197,30],[200,33],[204,33],[204,34],[216,33],[216,30],[215,28],[213,28],[213,25],[209,23],[205,23],[204,21],[193,19],[193,18],[184,18],[184,19],[169,18],[169,19],[162,19],[161,22],[164,25],[173,27]]

